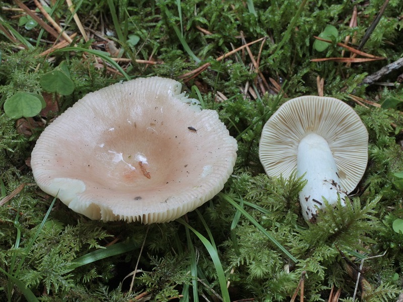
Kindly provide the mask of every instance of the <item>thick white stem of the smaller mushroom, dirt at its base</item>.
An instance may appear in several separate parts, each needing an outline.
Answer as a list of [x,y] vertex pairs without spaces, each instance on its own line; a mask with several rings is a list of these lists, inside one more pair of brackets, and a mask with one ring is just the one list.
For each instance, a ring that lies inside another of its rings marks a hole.
[[326,139],[311,133],[301,140],[298,145],[297,176],[305,173],[304,178],[307,180],[299,193],[305,220],[314,222],[317,211],[325,207],[322,196],[329,204],[335,204],[340,194],[342,204],[345,204],[347,192],[340,187],[337,171]]

